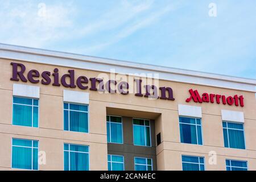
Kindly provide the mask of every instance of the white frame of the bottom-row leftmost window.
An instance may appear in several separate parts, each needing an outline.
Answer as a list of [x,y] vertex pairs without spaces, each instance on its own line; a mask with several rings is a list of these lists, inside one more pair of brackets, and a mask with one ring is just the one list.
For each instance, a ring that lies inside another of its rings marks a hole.
[[[18,140],[31,140],[32,141],[32,147],[26,147],[26,146],[14,146],[13,145],[13,139],[18,139]],[[38,142],[38,147],[33,147],[33,142]],[[31,148],[32,149],[32,155],[31,155],[31,167],[32,169],[24,169],[24,168],[15,168],[13,167],[13,147],[24,147],[24,148]],[[11,138],[11,169],[23,169],[23,170],[28,170],[28,171],[39,171],[39,162],[38,162],[38,169],[33,169],[33,149],[37,148],[38,149],[38,155],[39,155],[39,140],[33,140],[33,139],[24,139],[24,138]]]

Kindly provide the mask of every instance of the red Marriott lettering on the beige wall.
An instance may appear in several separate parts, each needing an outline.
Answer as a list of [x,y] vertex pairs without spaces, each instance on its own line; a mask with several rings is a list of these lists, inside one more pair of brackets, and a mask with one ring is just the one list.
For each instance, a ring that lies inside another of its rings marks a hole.
[[190,89],[189,93],[191,94],[191,96],[189,98],[187,98],[186,102],[190,102],[191,100],[193,100],[194,102],[199,102],[199,103],[203,103],[203,102],[211,102],[214,103],[216,102],[217,104],[228,104],[230,106],[232,105],[236,105],[236,106],[241,106],[243,107],[243,96],[222,96],[220,94],[208,94],[208,93],[203,93],[201,96],[199,94],[199,92],[197,90],[193,90]]

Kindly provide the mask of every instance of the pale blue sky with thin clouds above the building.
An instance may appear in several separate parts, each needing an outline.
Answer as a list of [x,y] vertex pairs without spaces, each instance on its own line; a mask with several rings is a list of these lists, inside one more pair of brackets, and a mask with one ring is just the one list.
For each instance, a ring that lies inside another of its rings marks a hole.
[[256,79],[255,0],[0,0],[0,43]]

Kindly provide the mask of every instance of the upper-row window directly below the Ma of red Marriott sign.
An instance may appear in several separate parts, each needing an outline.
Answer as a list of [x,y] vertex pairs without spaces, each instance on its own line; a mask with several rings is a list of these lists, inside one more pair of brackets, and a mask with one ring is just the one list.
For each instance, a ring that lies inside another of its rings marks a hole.
[[181,143],[203,144],[201,119],[179,117]]

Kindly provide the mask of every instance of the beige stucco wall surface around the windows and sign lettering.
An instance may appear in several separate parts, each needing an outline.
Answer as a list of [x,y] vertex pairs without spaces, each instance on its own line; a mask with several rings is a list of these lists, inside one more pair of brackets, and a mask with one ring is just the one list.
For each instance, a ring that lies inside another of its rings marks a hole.
[[[11,168],[11,139],[28,138],[39,140],[39,150],[46,151],[47,163],[40,165],[40,170],[63,170],[63,143],[79,143],[88,145],[90,151],[90,170],[106,170],[107,142],[106,142],[106,107],[119,109],[147,111],[152,114],[148,119],[155,119],[156,134],[161,132],[162,143],[156,148],[157,166],[159,170],[181,170],[181,155],[195,155],[205,157],[205,169],[225,170],[225,159],[247,160],[250,170],[256,170],[256,100],[255,94],[239,90],[214,88],[202,85],[184,84],[180,82],[160,81],[160,86],[170,86],[174,90],[175,101],[148,100],[135,97],[134,94],[100,94],[95,91],[68,89],[89,92],[89,134],[63,131],[63,86],[31,84],[30,82],[11,81],[14,60],[0,59],[0,169]],[[35,63],[26,65],[26,73],[30,69],[53,72],[59,69],[60,75],[67,73],[69,68],[42,65]],[[98,72],[75,69],[76,77],[97,77]],[[40,86],[39,100],[39,128],[12,125],[13,84],[27,84]],[[235,94],[245,97],[245,106],[236,107],[218,104],[196,104],[185,102],[189,97],[189,89],[197,89],[200,93],[216,93],[226,96]],[[203,146],[180,143],[178,104],[202,107]],[[222,133],[221,109],[242,111],[245,115],[246,150],[236,150],[224,147]],[[128,112],[128,111],[127,111]],[[133,113],[126,113],[126,115]],[[155,118],[152,118],[155,117]],[[208,163],[209,151],[216,151],[217,164]]]

